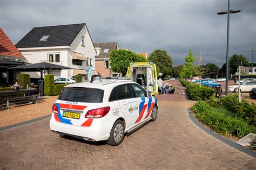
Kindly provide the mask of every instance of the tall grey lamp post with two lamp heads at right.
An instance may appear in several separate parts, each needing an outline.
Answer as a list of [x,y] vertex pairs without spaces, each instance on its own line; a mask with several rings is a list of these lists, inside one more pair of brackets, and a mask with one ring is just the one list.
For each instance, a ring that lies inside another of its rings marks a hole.
[[218,15],[224,15],[227,13],[227,52],[226,52],[226,96],[228,95],[227,89],[228,89],[228,56],[229,56],[229,39],[230,39],[230,13],[237,13],[241,10],[230,10],[230,0],[228,0],[227,3],[227,11],[224,12],[218,12]]

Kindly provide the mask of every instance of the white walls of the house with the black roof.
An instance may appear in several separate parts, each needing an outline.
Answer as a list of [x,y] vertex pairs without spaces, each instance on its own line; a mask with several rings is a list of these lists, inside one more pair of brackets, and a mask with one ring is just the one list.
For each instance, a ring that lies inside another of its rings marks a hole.
[[[84,45],[82,46],[82,36],[84,37]],[[63,47],[49,47],[41,48],[41,49],[19,49],[19,51],[25,56],[29,63],[38,63],[41,60],[49,60],[48,54],[49,53],[59,53],[60,54],[60,61],[62,61],[62,66],[71,67],[74,69],[87,69],[86,61],[83,61],[82,66],[73,65],[72,63],[72,55],[73,52],[84,54],[87,58],[92,59],[93,70],[95,70],[95,55],[97,55],[95,48],[93,46],[93,42],[91,41],[89,32],[86,29],[86,26],[78,33],[78,36],[73,40],[70,47],[63,48]],[[55,59],[54,59],[55,60]],[[30,74],[32,78],[40,78],[40,72],[31,72]],[[73,73],[72,69],[61,70],[60,76],[61,77],[71,77]],[[47,74],[47,73],[46,73]],[[59,76],[56,75],[56,76]]]

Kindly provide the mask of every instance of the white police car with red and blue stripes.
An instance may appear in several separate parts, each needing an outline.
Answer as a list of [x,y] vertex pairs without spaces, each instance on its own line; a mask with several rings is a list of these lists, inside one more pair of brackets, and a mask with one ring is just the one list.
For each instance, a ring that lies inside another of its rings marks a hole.
[[122,143],[126,133],[155,121],[157,99],[132,81],[95,81],[66,86],[52,106],[50,129],[89,141]]

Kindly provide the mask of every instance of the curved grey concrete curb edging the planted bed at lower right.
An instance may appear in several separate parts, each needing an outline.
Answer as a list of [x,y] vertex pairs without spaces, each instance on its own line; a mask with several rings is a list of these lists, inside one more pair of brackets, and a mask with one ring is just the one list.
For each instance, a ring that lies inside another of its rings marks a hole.
[[188,112],[189,112],[188,117],[191,119],[191,121],[192,121],[195,125],[198,126],[198,128],[200,128],[201,130],[203,130],[203,131],[205,131],[206,133],[210,134],[212,137],[214,137],[214,138],[220,140],[221,142],[227,144],[228,146],[231,146],[231,147],[235,148],[235,149],[238,150],[238,151],[241,151],[241,152],[243,152],[243,153],[245,153],[245,154],[247,154],[247,155],[250,155],[250,156],[253,157],[253,158],[256,158],[256,153],[254,153],[254,152],[251,151],[251,150],[248,150],[248,149],[245,148],[245,147],[242,147],[242,146],[240,146],[240,145],[238,145],[238,144],[235,144],[235,143],[233,143],[232,141],[227,140],[227,139],[224,138],[224,137],[221,137],[219,134],[216,134],[216,133],[214,133],[214,132],[211,131],[211,130],[208,130],[207,128],[205,128],[205,126],[203,126],[202,124],[200,124],[200,123],[198,122],[197,118],[194,117],[194,114],[191,113],[191,111],[188,111]]

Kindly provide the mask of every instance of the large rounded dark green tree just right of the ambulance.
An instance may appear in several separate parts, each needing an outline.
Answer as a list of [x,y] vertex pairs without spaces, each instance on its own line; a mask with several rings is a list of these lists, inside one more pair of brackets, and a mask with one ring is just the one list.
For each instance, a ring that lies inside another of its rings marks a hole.
[[160,73],[163,73],[164,77],[172,73],[172,58],[166,51],[157,49],[150,54],[148,60],[156,63],[156,66],[159,68]]

